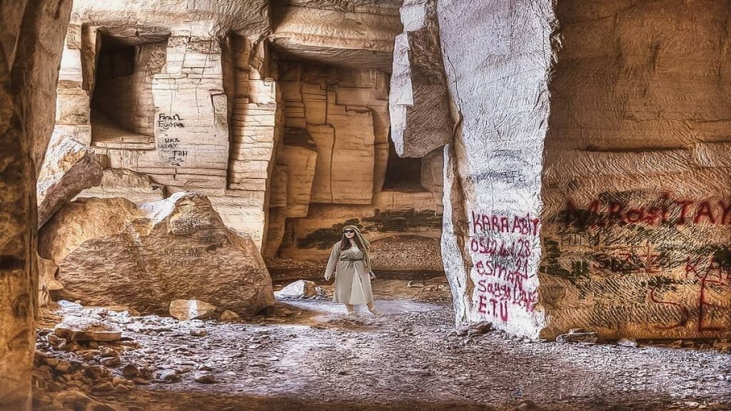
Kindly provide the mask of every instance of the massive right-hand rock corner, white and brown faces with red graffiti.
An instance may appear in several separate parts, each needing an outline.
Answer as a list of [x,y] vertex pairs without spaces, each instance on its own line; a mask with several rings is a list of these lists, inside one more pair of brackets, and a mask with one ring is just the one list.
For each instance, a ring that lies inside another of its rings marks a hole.
[[438,2],[457,124],[442,254],[458,323],[729,335],[730,12]]

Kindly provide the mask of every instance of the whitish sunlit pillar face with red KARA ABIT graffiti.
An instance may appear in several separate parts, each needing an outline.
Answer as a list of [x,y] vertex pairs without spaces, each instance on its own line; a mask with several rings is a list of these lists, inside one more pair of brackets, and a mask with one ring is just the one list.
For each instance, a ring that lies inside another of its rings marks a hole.
[[535,337],[545,325],[537,270],[550,2],[443,0],[437,13],[461,120],[444,149],[442,235],[457,319]]

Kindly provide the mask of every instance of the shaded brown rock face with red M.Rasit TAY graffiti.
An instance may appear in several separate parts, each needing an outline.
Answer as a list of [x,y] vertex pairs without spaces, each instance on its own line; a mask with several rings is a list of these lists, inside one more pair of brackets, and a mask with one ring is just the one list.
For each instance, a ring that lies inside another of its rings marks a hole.
[[545,335],[730,335],[727,2],[559,1],[556,17]]

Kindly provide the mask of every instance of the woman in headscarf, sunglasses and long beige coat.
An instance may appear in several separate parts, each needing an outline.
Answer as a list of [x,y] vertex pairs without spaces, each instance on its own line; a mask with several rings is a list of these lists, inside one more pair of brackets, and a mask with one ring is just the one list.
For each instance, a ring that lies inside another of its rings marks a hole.
[[325,268],[325,279],[335,274],[333,301],[344,303],[348,315],[355,315],[355,304],[366,304],[368,311],[380,314],[373,303],[371,290],[371,244],[354,225],[343,228],[343,238],[333,246]]

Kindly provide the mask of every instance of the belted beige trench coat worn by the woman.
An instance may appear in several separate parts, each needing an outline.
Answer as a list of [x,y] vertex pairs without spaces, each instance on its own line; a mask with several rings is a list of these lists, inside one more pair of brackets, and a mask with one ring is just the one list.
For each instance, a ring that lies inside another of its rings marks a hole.
[[364,261],[348,261],[346,258],[363,258],[363,252],[352,246],[352,248],[340,251],[340,241],[333,246],[330,252],[330,260],[327,260],[325,268],[325,279],[330,279],[335,274],[335,293],[333,301],[344,304],[367,304],[373,302],[373,290],[371,290],[371,273],[366,270]]

